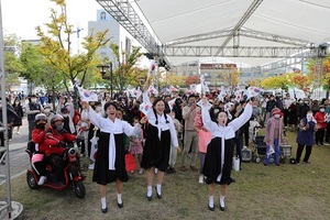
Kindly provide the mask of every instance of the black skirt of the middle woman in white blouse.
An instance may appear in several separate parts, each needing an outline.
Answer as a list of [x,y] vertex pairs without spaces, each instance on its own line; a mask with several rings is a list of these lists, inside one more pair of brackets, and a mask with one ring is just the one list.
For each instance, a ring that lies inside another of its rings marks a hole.
[[162,131],[161,140],[158,138],[158,129],[148,124],[146,128],[145,145],[143,148],[141,167],[147,169],[156,167],[161,172],[165,172],[168,167],[170,150],[169,130]]

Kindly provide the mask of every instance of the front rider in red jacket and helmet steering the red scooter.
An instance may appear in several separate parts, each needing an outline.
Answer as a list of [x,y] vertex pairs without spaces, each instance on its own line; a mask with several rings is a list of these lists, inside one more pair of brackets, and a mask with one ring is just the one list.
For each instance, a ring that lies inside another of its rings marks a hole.
[[58,183],[64,182],[63,176],[63,153],[65,152],[66,142],[76,141],[76,135],[70,134],[63,129],[63,117],[55,114],[51,120],[51,128],[46,132],[45,143],[48,145],[45,150],[46,163],[51,164],[57,174]]

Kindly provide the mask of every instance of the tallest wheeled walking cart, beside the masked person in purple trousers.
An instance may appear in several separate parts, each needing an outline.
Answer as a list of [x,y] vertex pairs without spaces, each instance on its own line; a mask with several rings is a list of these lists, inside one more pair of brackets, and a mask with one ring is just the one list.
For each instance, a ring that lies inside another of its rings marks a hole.
[[[261,163],[262,158],[261,155],[265,156],[266,155],[266,150],[267,150],[267,145],[264,142],[265,135],[257,135],[258,131],[260,131],[261,127],[254,127],[253,128],[253,135],[252,135],[252,140],[253,140],[253,145],[254,145],[254,150],[253,150],[253,157],[252,161],[254,161],[255,163]],[[271,163],[274,162],[274,154],[271,155]]]

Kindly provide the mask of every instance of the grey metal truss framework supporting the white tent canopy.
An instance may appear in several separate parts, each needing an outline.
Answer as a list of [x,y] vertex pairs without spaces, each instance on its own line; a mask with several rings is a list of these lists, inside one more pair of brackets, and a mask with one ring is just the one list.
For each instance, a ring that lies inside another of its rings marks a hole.
[[[244,15],[233,29],[210,32],[188,37],[174,40],[164,45],[158,41],[156,34],[142,22],[135,9],[129,0],[96,0],[113,19],[116,19],[148,53],[156,57],[163,57],[168,65],[168,56],[190,56],[190,57],[268,57],[289,58],[316,57],[318,47],[310,42],[242,29],[243,24],[253,14],[263,0],[254,0]],[[261,47],[240,46],[240,35],[254,37],[264,41],[289,44],[288,47]],[[178,46],[188,42],[205,41],[208,38],[227,37],[222,46]],[[233,46],[226,46],[233,38]],[[307,52],[306,52],[307,51]],[[266,66],[266,65],[264,65]],[[273,65],[274,66],[274,65]],[[258,67],[261,68],[261,67]]]

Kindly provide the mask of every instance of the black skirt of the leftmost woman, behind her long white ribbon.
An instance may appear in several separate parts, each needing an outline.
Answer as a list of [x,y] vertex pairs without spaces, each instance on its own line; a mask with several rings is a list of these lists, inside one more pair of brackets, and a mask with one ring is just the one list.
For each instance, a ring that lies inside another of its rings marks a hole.
[[129,176],[125,169],[125,152],[123,145],[123,134],[114,134],[116,162],[114,170],[109,169],[109,141],[110,133],[100,132],[98,141],[98,152],[95,162],[92,182],[107,185],[119,178],[128,182]]

